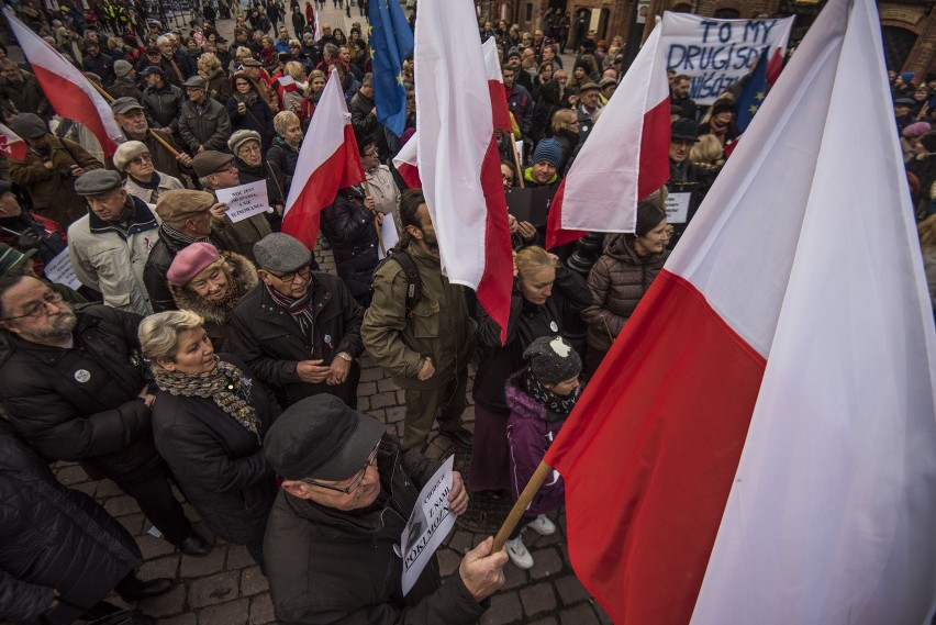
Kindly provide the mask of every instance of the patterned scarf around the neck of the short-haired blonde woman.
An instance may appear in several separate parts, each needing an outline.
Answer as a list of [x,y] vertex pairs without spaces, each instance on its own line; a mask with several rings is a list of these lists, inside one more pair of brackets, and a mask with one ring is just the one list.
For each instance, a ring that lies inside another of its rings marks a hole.
[[249,429],[260,443],[260,421],[250,405],[249,379],[232,365],[214,357],[215,367],[204,373],[182,373],[154,367],[156,383],[167,393],[181,397],[211,398],[218,406]]

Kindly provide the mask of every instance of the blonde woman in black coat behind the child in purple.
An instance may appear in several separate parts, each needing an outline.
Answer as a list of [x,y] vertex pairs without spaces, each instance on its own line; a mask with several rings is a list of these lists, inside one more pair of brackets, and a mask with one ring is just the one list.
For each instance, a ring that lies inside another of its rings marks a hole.
[[537,246],[514,254],[506,344],[501,328],[479,309],[480,364],[475,376],[475,445],[468,473],[472,491],[510,490],[510,408],[504,383],[525,366],[523,351],[541,336],[562,336],[571,319],[591,304],[584,279],[569,271],[553,254]]

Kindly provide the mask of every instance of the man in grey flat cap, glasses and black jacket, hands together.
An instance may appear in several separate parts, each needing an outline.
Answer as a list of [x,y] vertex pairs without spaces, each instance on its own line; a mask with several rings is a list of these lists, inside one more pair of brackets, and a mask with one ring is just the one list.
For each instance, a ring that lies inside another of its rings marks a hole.
[[231,350],[271,387],[283,406],[320,393],[357,405],[364,310],[333,274],[312,270],[312,254],[283,233],[254,246],[263,281],[231,320]]

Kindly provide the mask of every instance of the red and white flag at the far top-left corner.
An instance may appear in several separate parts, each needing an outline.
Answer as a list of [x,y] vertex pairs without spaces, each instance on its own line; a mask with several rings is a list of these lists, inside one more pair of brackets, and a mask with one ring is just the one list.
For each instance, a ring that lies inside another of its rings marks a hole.
[[3,14],[55,112],[83,124],[101,144],[104,155],[113,156],[123,133],[103,96],[77,67],[18,20],[9,7]]

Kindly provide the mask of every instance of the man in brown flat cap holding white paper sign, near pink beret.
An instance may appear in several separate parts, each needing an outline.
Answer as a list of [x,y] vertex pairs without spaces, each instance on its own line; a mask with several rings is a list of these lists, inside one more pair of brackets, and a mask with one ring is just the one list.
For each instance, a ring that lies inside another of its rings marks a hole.
[[[219,189],[230,189],[241,185],[233,154],[207,149],[192,158],[192,167],[201,186],[212,193]],[[269,220],[264,213],[250,215],[238,222],[232,222],[225,216],[215,227],[224,230],[227,249],[246,256],[250,260],[255,260],[254,245],[272,232]]]

